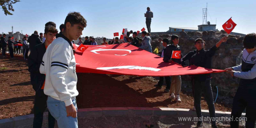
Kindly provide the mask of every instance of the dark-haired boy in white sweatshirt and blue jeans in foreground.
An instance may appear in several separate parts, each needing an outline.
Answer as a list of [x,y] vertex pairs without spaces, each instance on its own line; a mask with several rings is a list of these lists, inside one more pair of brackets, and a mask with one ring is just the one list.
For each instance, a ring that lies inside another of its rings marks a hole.
[[61,128],[78,128],[76,60],[71,41],[82,35],[86,23],[80,13],[69,13],[63,33],[47,47],[40,65],[40,73],[46,75],[47,107]]

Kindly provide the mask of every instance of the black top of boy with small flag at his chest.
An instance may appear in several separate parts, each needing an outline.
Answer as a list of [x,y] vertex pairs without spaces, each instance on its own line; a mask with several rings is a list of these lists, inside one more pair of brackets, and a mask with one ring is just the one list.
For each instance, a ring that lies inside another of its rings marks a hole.
[[[165,50],[163,51],[163,61],[168,62],[170,59],[178,64],[181,64],[181,59],[172,58],[173,51],[181,51],[179,45],[175,47],[173,44],[167,45]],[[183,55],[181,54],[181,58]]]

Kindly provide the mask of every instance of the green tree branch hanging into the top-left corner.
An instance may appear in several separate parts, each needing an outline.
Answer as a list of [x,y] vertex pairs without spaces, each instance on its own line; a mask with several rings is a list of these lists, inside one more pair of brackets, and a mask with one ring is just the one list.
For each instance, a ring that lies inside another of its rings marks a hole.
[[4,11],[5,15],[13,15],[10,11],[14,11],[13,3],[17,3],[19,0],[0,0],[1,8]]

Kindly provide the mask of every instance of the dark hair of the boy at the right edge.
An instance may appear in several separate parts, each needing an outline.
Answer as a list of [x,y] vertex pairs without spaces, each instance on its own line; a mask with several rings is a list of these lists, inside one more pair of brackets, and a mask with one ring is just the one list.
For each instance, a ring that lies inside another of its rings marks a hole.
[[256,46],[256,34],[249,33],[243,39],[243,47],[246,49],[252,49]]

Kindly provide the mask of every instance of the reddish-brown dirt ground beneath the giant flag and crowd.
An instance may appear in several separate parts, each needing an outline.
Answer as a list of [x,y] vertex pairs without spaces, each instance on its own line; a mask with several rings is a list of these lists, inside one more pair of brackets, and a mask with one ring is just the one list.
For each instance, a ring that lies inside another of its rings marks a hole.
[[[0,55],[0,119],[33,113],[35,91],[22,55]],[[77,73],[77,107],[168,107],[193,108],[191,91],[183,90],[181,103],[168,99],[169,93],[155,88],[152,77]],[[182,84],[184,86],[184,84]],[[202,109],[208,109],[202,97]],[[231,106],[217,102],[216,111],[231,111]]]

